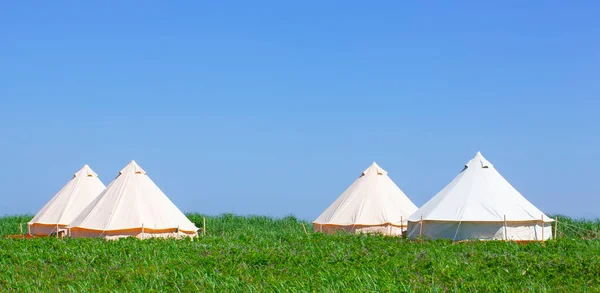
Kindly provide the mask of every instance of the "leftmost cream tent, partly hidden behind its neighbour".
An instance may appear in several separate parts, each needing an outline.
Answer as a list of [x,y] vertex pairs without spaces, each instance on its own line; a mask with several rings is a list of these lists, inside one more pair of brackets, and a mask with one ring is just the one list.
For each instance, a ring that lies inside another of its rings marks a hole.
[[73,178],[28,223],[29,234],[50,235],[65,228],[102,190],[104,184],[88,165]]

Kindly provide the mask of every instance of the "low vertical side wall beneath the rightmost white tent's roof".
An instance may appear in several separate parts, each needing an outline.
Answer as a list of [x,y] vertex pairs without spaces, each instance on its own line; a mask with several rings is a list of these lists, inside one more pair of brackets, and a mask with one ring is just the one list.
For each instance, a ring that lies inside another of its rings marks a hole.
[[[429,239],[460,240],[512,240],[512,241],[542,241],[542,222],[444,222],[423,221],[408,222],[409,238],[418,238],[421,234]],[[506,230],[506,237],[505,237]],[[543,240],[552,238],[552,223],[544,223]]]

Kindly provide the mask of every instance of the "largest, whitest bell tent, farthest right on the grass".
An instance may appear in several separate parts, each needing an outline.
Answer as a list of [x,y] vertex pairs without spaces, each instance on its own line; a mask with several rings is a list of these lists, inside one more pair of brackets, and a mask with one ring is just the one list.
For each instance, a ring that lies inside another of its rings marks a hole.
[[553,220],[523,197],[481,153],[408,220],[408,236],[538,241]]

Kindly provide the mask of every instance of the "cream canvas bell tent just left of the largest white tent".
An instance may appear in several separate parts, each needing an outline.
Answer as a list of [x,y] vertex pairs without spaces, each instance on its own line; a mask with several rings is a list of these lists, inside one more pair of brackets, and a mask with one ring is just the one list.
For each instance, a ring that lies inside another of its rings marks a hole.
[[373,163],[314,222],[315,231],[400,235],[417,207]]

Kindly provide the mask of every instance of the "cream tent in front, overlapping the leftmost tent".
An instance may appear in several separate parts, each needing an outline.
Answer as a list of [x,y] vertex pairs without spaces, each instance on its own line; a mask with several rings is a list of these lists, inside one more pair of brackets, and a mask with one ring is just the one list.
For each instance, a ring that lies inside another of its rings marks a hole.
[[197,231],[134,161],[70,225],[74,238],[179,238]]

